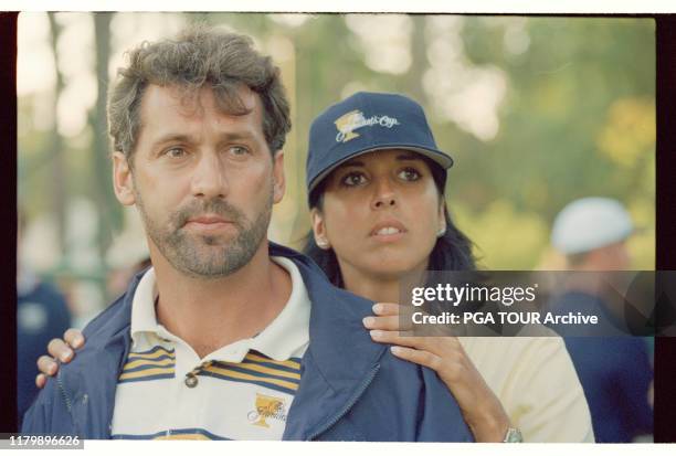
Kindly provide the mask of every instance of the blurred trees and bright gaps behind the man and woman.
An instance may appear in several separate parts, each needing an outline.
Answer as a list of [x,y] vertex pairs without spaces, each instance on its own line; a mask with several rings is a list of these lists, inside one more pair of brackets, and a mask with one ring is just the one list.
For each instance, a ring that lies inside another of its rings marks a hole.
[[22,13],[19,19],[20,265],[57,285],[82,327],[147,256],[110,184],[105,95],[126,49],[191,21],[251,35],[292,103],[287,195],[270,237],[309,229],[311,119],[361,89],[419,100],[455,159],[448,204],[496,269],[561,268],[556,214],[588,195],[622,201],[655,259],[655,24],[634,18],[405,14]]

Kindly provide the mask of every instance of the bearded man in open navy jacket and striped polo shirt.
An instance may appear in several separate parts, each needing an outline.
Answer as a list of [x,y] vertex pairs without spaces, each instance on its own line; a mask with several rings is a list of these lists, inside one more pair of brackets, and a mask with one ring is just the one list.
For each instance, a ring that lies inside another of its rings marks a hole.
[[246,36],[129,53],[108,99],[114,187],[152,267],[84,330],[23,432],[82,438],[471,441],[436,374],[372,342],[372,303],[266,238],[289,108]]

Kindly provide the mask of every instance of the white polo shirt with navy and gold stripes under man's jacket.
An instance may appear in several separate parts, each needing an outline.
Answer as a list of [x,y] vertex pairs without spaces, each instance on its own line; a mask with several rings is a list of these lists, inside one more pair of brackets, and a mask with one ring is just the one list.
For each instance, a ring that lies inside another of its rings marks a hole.
[[152,268],[131,305],[131,349],[118,379],[112,438],[282,439],[309,342],[310,303],[288,258],[272,257],[293,289],[258,335],[200,359],[158,324]]

